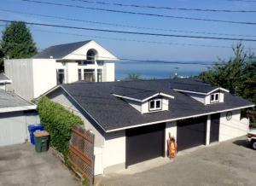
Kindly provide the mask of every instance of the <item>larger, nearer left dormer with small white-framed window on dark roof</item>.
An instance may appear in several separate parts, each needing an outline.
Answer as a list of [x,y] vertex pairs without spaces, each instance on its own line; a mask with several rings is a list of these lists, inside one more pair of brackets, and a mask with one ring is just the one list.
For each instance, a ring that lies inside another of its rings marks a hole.
[[169,100],[174,99],[174,96],[161,91],[123,86],[116,86],[112,94],[124,100],[142,114],[166,111],[169,109]]

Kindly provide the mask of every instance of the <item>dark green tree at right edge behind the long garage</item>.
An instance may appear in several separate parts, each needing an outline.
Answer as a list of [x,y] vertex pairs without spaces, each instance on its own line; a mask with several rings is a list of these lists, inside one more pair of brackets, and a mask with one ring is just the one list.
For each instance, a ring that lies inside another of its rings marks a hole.
[[[242,44],[237,44],[233,51],[235,56],[229,61],[218,59],[208,71],[200,74],[200,78],[256,103],[256,57],[245,51]],[[255,108],[245,113],[256,123]]]

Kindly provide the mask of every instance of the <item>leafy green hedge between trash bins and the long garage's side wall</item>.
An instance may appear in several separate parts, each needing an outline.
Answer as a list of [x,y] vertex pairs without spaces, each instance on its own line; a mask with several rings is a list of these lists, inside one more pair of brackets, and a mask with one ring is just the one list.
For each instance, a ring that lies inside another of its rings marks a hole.
[[83,125],[82,119],[46,96],[38,101],[38,113],[45,130],[50,133],[50,145],[66,158],[72,127]]

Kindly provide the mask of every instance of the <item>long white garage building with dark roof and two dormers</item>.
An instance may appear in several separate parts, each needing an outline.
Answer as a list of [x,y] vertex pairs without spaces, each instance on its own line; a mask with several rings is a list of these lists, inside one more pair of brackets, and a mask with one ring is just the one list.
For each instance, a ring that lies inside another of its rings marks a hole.
[[95,134],[95,174],[165,157],[169,132],[178,152],[243,136],[241,109],[254,107],[195,78],[60,84],[45,96]]

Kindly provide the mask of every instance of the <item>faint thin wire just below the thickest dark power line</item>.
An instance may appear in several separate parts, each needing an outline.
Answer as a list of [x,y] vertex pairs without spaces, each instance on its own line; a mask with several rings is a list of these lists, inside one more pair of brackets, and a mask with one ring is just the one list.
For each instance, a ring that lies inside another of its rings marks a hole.
[[[137,43],[147,43],[147,44],[167,44],[167,45],[197,46],[197,47],[223,48],[223,49],[231,49],[232,48],[230,46],[223,46],[223,45],[168,43],[168,42],[126,39],[126,38],[109,38],[109,37],[102,37],[102,36],[91,36],[91,35],[85,35],[85,34],[79,34],[79,33],[70,33],[70,32],[52,32],[52,31],[45,31],[45,30],[41,30],[41,29],[32,29],[32,30],[36,31],[36,32],[49,32],[49,33],[64,34],[64,35],[79,36],[79,37],[102,38],[102,39],[137,42]],[[256,48],[247,48],[247,49],[256,49]]]

